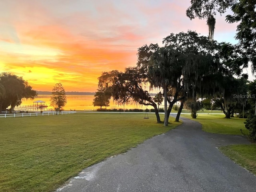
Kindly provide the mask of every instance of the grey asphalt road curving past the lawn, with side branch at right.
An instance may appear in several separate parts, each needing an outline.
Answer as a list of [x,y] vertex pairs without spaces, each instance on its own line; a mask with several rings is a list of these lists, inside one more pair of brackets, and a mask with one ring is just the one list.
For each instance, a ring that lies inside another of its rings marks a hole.
[[60,192],[255,192],[256,176],[217,148],[249,143],[242,136],[205,133],[182,118],[176,129],[126,154],[84,169]]

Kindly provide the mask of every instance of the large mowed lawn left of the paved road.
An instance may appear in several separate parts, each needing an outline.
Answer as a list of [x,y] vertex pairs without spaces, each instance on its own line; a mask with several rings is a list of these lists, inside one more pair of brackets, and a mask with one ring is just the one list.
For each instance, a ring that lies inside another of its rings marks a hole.
[[[0,119],[0,191],[52,191],[83,168],[168,127],[154,114],[83,113]],[[163,119],[163,116],[161,115]]]

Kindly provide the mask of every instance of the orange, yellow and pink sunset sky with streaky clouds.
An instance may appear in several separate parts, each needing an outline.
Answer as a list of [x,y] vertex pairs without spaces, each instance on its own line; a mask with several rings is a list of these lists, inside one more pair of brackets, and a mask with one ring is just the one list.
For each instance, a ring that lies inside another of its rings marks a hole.
[[[0,72],[22,76],[34,90],[95,92],[104,71],[135,66],[137,49],[170,33],[207,36],[190,20],[190,0],[1,0]],[[235,43],[236,24],[216,16],[214,39]]]

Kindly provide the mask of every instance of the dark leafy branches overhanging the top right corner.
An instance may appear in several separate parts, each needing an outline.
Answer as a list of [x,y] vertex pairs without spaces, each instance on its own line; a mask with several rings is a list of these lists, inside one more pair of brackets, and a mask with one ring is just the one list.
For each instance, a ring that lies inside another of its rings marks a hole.
[[244,60],[252,62],[252,71],[256,72],[256,3],[255,0],[191,0],[186,10],[190,19],[209,18],[217,12],[223,14],[228,8],[233,15],[227,15],[228,23],[238,22],[235,38],[239,40],[236,49]]

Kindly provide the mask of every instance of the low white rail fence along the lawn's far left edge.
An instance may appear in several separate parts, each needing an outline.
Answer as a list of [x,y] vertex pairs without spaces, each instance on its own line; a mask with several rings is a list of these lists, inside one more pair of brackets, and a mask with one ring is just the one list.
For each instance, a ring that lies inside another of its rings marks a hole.
[[66,114],[74,114],[76,111],[61,111],[61,112],[50,112],[50,111],[44,111],[42,113],[12,113],[12,114],[0,114],[1,117],[32,117],[32,116],[48,116],[48,115],[66,115]]

